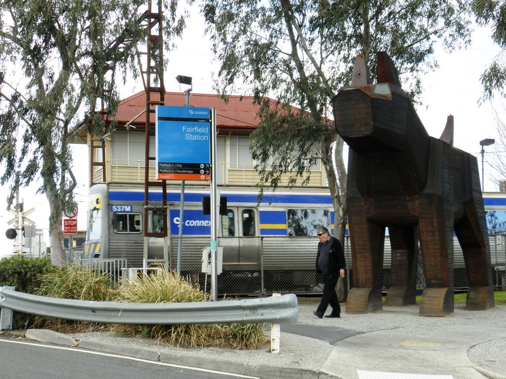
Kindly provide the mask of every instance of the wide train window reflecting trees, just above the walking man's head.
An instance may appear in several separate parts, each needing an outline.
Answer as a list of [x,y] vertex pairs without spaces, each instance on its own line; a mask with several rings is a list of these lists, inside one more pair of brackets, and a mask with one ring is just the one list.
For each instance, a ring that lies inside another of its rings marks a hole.
[[288,235],[315,235],[320,226],[328,227],[328,209],[288,209]]

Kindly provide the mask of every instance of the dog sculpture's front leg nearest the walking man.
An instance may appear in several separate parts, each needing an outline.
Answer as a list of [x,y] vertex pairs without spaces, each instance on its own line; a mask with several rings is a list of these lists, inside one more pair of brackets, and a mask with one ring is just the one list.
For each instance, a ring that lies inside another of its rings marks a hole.
[[346,313],[382,309],[383,251],[385,227],[367,220],[361,198],[348,199],[350,240],[354,247],[353,285],[346,300]]

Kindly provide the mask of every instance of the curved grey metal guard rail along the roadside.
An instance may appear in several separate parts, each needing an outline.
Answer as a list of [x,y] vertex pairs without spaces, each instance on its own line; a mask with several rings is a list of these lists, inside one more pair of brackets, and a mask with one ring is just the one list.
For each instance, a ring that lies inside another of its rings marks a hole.
[[38,316],[114,324],[295,323],[294,294],[195,303],[119,303],[36,296],[0,286],[0,307]]

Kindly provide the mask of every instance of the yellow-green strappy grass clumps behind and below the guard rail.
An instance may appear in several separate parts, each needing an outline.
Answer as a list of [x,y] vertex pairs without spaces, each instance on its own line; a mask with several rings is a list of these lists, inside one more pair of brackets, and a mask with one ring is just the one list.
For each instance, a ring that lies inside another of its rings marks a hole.
[[[143,280],[115,285],[110,276],[90,267],[52,266],[40,277],[35,295],[64,299],[125,303],[191,303],[210,297],[176,273],[147,275]],[[48,317],[35,317],[32,326],[64,333],[114,329],[121,334],[152,338],[177,346],[228,346],[254,349],[267,341],[264,324],[105,325]]]

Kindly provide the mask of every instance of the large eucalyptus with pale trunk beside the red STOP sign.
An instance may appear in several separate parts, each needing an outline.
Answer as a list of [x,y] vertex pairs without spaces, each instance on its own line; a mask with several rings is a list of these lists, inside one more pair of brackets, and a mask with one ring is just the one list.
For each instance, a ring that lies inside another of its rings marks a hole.
[[[165,0],[164,44],[184,20],[177,0]],[[115,75],[138,73],[136,46],[144,43],[143,0],[3,0],[0,2],[0,162],[11,196],[41,178],[50,206],[52,261],[64,260],[62,211],[76,185],[70,143],[79,120],[95,135],[114,127],[104,118],[119,103]],[[142,46],[141,46],[142,47]],[[106,109],[104,117],[95,111]]]

